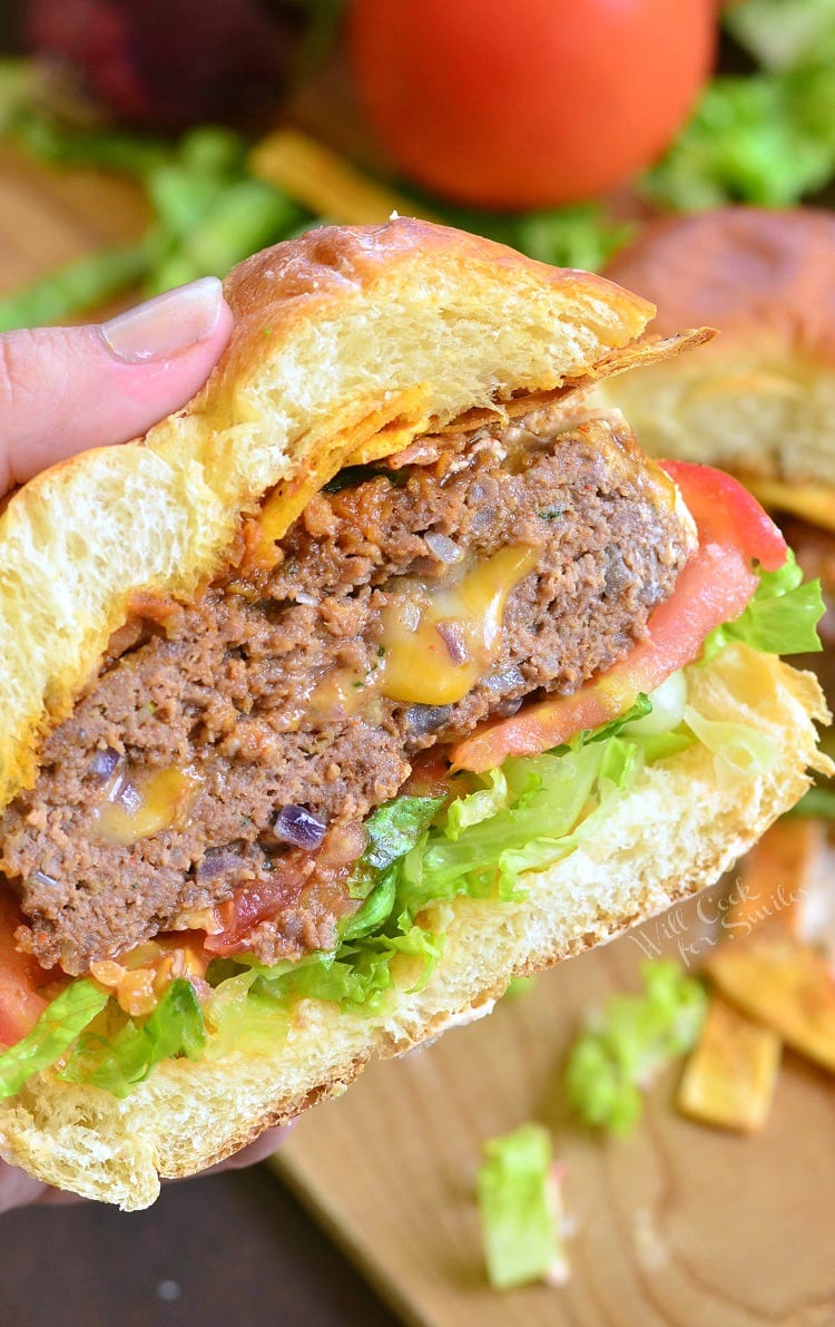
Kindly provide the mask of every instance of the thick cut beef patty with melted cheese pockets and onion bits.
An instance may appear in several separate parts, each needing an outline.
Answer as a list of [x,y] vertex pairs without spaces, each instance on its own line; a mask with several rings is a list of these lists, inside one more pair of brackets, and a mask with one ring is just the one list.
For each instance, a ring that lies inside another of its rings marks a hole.
[[[196,602],[137,596],[0,823],[20,943],[45,966],[217,929],[205,909],[244,896],[262,959],[331,947],[339,832],[416,752],[622,658],[685,561],[671,494],[616,422],[530,417],[412,456],[337,476],[269,573],[239,560]],[[288,848],[286,807],[329,827],[330,855]]]

